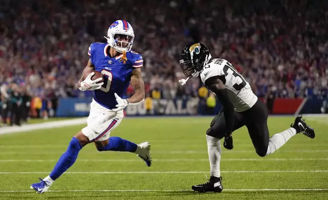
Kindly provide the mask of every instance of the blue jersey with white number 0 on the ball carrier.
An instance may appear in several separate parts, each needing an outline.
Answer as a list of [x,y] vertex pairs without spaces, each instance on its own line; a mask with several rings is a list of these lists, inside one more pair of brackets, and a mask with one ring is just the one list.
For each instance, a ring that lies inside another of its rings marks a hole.
[[104,76],[104,84],[101,89],[93,91],[95,101],[108,109],[115,109],[117,105],[114,93],[121,98],[124,97],[127,87],[130,84],[132,70],[143,66],[143,58],[140,54],[130,51],[126,53],[127,61],[120,62],[122,54],[111,58],[107,55],[106,43],[92,43],[89,47],[88,55],[95,70]]

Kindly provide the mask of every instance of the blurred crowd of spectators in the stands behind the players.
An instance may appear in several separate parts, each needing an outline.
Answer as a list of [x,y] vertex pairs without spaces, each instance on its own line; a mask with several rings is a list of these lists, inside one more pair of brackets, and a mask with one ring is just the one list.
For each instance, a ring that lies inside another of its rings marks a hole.
[[[213,58],[229,60],[260,97],[326,97],[324,0],[4,0],[0,84],[18,86],[55,108],[60,97],[90,96],[76,87],[88,47],[106,42],[117,19],[134,29],[132,49],[144,57],[149,97],[154,91],[159,98],[199,96],[199,79],[178,83],[180,52],[189,42],[203,42]],[[132,93],[129,87],[127,95]]]

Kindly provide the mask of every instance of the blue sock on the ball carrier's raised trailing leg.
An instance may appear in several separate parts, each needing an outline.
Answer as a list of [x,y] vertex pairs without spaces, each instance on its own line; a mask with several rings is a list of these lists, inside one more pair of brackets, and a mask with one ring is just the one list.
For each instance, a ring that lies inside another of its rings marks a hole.
[[115,151],[115,152],[135,152],[137,145],[120,137],[110,137],[110,142],[103,147],[98,147],[98,151]]

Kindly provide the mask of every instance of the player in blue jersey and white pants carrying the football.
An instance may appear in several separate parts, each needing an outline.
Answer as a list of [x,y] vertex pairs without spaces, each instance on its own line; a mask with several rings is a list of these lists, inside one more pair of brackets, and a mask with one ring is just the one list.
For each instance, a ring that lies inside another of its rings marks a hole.
[[[85,145],[94,142],[98,151],[132,152],[151,165],[150,143],[135,144],[119,137],[110,137],[110,133],[121,122],[123,109],[138,105],[144,101],[144,81],[141,77],[143,58],[131,50],[134,32],[125,20],[117,20],[108,29],[107,43],[92,43],[88,55],[88,65],[79,80],[81,91],[92,90],[93,101],[87,119],[87,127],[78,132],[68,144],[67,151],[60,157],[56,166],[41,182],[31,185],[38,193],[46,192],[51,184],[71,167]],[[85,80],[84,74],[96,70],[102,78],[91,80],[94,72]],[[129,83],[135,89],[130,98],[123,98]]]

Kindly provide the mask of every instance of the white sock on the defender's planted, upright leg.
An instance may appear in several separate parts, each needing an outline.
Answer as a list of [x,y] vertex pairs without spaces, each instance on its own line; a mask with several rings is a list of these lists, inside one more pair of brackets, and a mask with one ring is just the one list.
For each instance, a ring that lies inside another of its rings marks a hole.
[[221,140],[206,135],[211,177],[220,177]]

